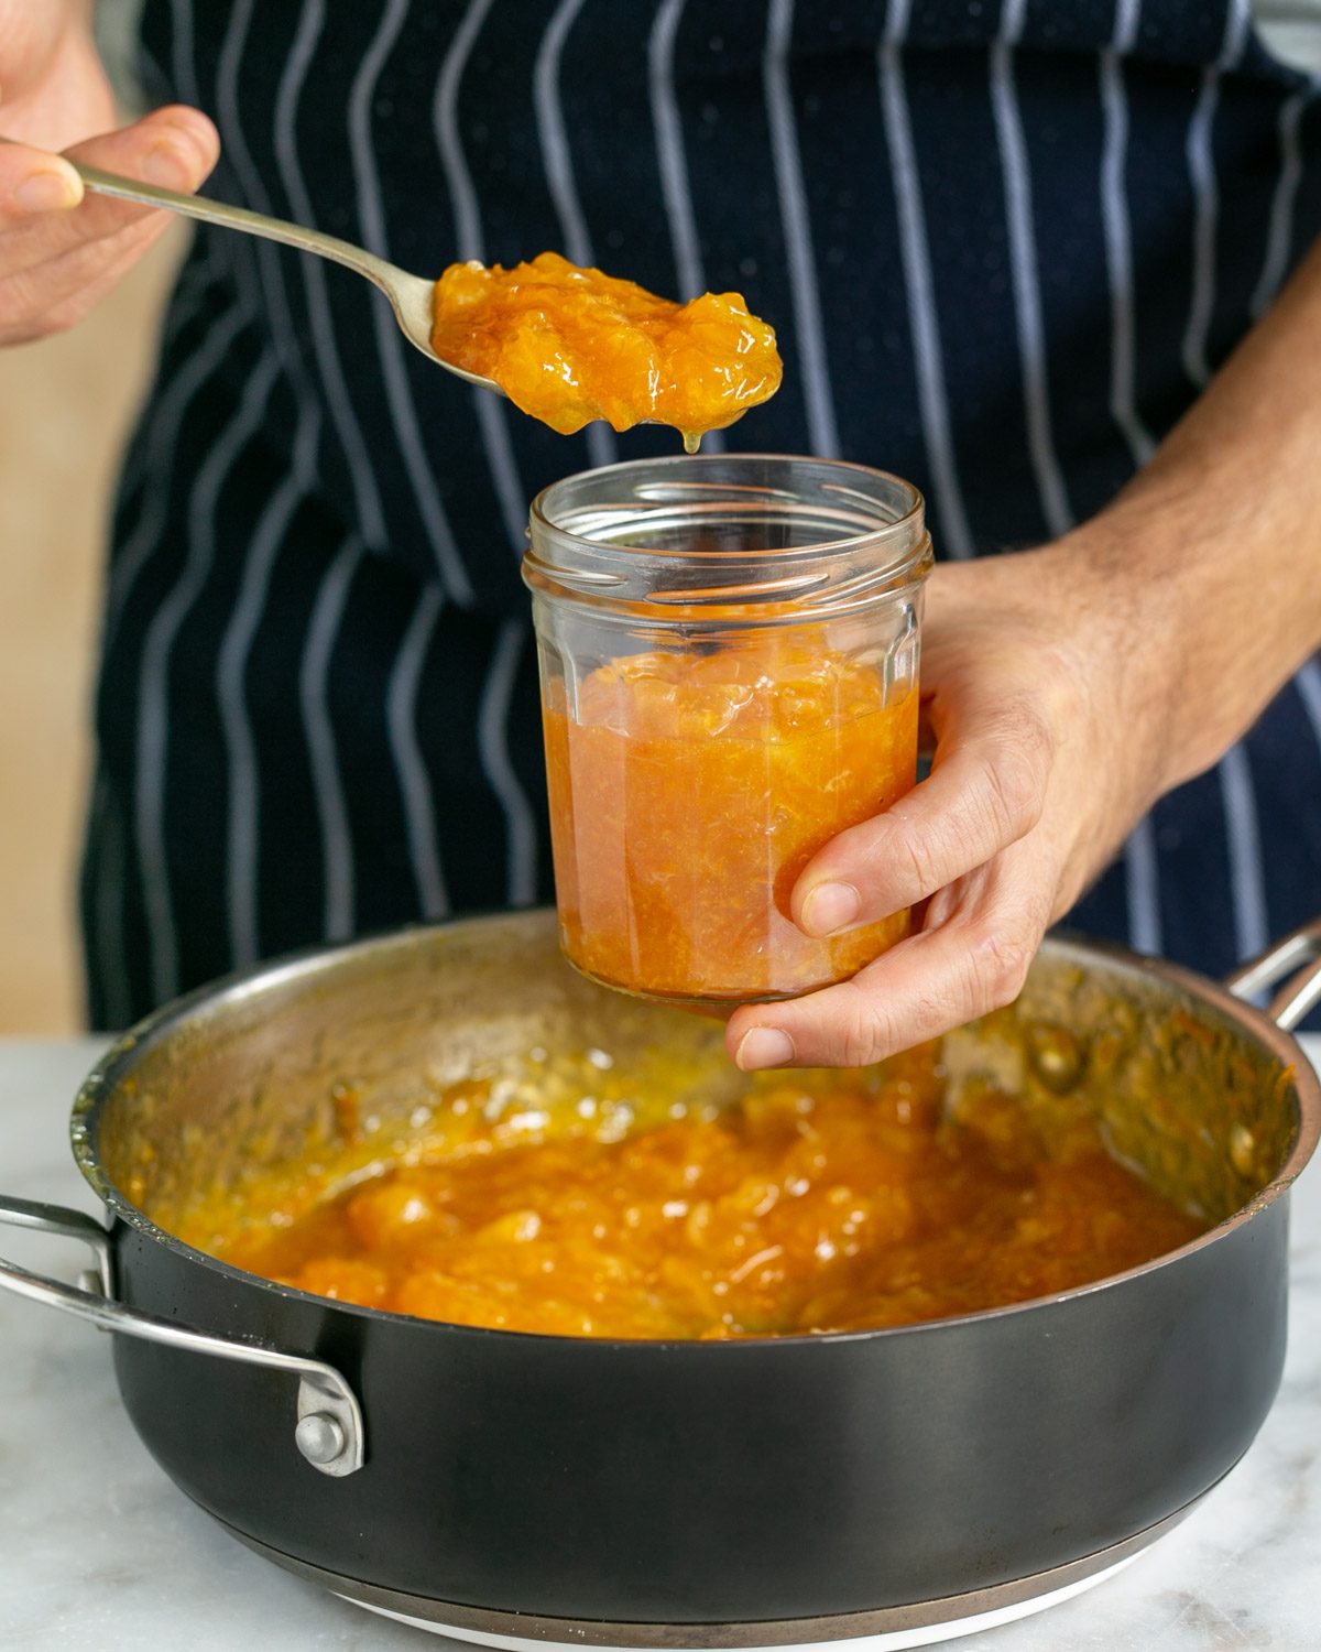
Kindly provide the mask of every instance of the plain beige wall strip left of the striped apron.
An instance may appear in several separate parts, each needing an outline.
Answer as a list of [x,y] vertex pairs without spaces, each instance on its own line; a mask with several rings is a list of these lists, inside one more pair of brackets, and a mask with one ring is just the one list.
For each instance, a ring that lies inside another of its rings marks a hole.
[[182,231],[79,327],[0,352],[0,1034],[81,1024],[74,899],[102,547]]

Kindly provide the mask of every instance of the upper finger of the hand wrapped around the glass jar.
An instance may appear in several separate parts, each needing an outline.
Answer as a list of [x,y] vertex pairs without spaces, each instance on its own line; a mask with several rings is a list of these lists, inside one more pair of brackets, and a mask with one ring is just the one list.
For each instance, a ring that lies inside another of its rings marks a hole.
[[963,712],[943,735],[921,785],[832,838],[803,869],[789,910],[806,935],[902,912],[1037,824],[1055,742],[1029,702]]

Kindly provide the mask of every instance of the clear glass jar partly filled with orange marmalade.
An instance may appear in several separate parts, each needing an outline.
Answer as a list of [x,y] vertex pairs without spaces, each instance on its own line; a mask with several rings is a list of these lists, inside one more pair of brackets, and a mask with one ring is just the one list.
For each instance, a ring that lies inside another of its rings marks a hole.
[[824,459],[644,459],[547,487],[528,539],[568,960],[718,1009],[900,940],[907,914],[811,940],[789,894],[915,781],[918,491]]

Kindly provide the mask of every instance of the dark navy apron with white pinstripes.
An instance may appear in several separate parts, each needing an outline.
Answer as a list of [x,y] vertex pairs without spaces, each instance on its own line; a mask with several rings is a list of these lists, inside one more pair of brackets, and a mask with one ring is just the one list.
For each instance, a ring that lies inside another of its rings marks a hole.
[[[943,557],[1100,509],[1321,226],[1321,99],[1243,0],[147,0],[142,41],[220,127],[213,195],[418,273],[743,292],[784,387],[723,446],[911,477]],[[667,451],[556,436],[358,278],[201,230],[114,515],[92,1024],[552,899],[527,506]],[[1313,661],[1070,925],[1219,975],[1319,907]]]

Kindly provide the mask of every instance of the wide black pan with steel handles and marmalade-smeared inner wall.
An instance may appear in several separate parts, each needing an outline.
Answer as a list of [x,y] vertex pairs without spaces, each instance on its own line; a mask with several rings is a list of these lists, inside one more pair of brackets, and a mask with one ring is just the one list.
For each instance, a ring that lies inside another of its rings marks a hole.
[[[68,1285],[5,1262],[0,1284],[112,1332],[124,1404],[177,1485],[365,1606],[497,1645],[925,1644],[1106,1576],[1262,1426],[1290,1188],[1321,1127],[1285,1028],[1321,996],[1318,955],[1321,923],[1220,988],[1052,938],[1017,1004],[945,1039],[951,1095],[1083,1110],[1212,1222],[1009,1308],[713,1343],[542,1336],[330,1302],[172,1237],[190,1201],[334,1145],[345,1087],[385,1151],[438,1087],[518,1094],[548,1051],[570,1084],[608,1052],[642,1094],[674,1051],[713,1095],[741,1082],[718,1028],[578,978],[548,912],[312,952],[144,1021],[73,1110],[107,1226],[0,1201],[94,1265]],[[1288,976],[1268,1011],[1245,1001]]]

